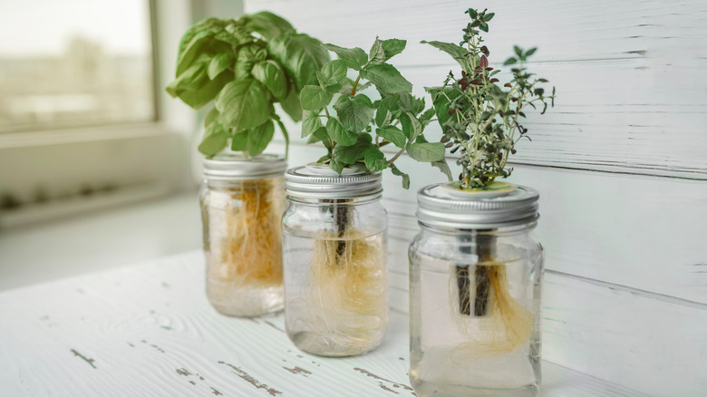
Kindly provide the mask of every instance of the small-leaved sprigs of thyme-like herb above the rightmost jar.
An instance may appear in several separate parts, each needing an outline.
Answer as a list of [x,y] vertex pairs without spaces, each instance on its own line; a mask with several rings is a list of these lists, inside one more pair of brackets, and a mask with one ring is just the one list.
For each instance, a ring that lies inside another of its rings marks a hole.
[[[512,169],[506,169],[508,157],[516,153],[518,140],[528,138],[528,129],[520,123],[526,117],[524,111],[542,104],[542,114],[548,103],[554,106],[555,88],[551,95],[546,95],[539,84],[547,80],[528,73],[525,63],[536,48],[525,51],[518,46],[514,47],[515,55],[503,63],[513,67],[511,78],[501,85],[495,77],[500,71],[489,67],[489,48],[482,44],[480,36],[480,32],[489,32],[489,21],[494,14],[472,8],[466,13],[471,22],[463,30],[463,41],[459,45],[421,43],[449,53],[461,66],[459,77],[450,72],[443,86],[427,91],[431,93],[432,106],[443,131],[442,142],[451,153],[460,151],[457,160],[461,166],[460,188],[485,189],[494,179],[510,175]],[[439,155],[422,142],[415,141],[408,146],[413,158],[430,159]],[[433,162],[433,165],[450,174],[446,164]]]

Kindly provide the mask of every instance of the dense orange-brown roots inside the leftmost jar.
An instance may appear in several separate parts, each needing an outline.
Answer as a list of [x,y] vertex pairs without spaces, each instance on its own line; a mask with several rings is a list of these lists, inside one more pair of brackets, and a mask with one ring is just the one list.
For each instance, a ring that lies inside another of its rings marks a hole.
[[[246,180],[240,189],[228,189],[226,194],[228,205],[211,208],[225,209],[226,233],[218,241],[210,241],[209,279],[228,289],[281,286],[282,189],[276,188],[276,179]],[[214,222],[219,217],[210,218]]]

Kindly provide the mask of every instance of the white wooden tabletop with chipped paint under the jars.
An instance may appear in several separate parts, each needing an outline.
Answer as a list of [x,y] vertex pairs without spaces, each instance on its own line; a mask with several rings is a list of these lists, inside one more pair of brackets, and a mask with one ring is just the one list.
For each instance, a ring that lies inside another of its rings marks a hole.
[[[218,315],[200,251],[0,294],[3,396],[410,396],[407,315],[359,357],[299,352],[283,315]],[[543,363],[543,396],[644,395]]]

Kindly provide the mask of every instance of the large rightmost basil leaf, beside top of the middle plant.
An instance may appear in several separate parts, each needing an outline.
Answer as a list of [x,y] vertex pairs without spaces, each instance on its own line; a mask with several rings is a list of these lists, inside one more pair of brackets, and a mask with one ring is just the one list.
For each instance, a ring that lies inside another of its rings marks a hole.
[[278,34],[270,40],[267,52],[295,78],[298,88],[316,84],[315,72],[329,61],[329,53],[322,48],[322,42],[294,31]]

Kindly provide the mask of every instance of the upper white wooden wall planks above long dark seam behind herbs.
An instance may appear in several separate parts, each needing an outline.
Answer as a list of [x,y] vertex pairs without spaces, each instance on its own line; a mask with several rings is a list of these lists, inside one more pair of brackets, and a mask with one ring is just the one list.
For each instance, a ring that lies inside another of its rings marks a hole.
[[[397,37],[407,50],[392,59],[421,95],[440,85],[454,61],[421,40],[457,43],[470,5],[460,1],[247,1],[300,30],[368,50],[373,38]],[[531,71],[557,86],[557,106],[528,113],[532,144],[515,161],[572,169],[707,179],[707,5],[580,0],[495,2],[486,44],[498,67],[512,46],[538,46]],[[346,9],[346,12],[342,12]],[[429,102],[429,101],[428,101]],[[439,131],[438,126],[432,126]],[[296,135],[296,134],[295,134]]]

